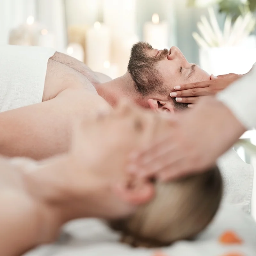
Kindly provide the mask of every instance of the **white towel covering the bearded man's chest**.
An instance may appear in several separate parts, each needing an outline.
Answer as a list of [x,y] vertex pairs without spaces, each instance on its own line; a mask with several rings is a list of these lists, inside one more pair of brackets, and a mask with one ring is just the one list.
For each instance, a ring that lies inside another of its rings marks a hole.
[[51,48],[0,46],[0,112],[42,102]]

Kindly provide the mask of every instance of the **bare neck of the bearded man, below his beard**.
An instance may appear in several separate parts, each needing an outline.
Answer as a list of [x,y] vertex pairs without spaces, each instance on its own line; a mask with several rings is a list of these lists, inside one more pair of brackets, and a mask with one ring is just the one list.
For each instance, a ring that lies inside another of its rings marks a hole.
[[132,78],[128,72],[124,76],[94,86],[98,94],[113,107],[118,104],[120,99],[140,104],[141,99],[134,89]]

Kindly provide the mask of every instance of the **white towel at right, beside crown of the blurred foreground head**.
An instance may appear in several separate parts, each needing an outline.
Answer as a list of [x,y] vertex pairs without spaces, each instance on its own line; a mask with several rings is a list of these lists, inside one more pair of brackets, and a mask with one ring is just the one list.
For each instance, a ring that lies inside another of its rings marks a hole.
[[253,186],[253,167],[232,149],[218,160],[224,183],[223,203],[236,205],[250,212]]

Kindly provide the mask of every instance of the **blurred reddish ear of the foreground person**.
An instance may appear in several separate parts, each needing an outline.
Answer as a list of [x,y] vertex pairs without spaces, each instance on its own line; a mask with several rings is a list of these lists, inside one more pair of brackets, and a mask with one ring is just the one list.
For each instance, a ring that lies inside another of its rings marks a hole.
[[122,201],[132,205],[140,205],[153,198],[155,188],[149,180],[133,176],[126,182],[116,185],[114,192]]

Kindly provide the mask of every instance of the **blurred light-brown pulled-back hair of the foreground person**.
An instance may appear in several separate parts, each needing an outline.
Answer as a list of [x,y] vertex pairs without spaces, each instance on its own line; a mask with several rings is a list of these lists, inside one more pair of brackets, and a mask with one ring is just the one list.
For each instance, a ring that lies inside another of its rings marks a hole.
[[[153,181],[152,181],[153,182]],[[220,204],[222,180],[217,167],[169,183],[154,182],[155,196],[136,212],[109,225],[132,246],[167,246],[191,239],[212,220]]]

